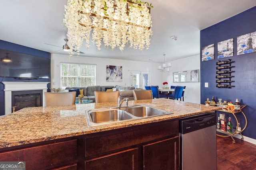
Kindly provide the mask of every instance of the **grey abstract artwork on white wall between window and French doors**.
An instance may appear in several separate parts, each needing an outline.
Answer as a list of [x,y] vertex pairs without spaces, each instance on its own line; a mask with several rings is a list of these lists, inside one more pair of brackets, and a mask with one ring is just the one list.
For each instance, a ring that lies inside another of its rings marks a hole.
[[106,69],[107,82],[122,82],[122,66],[107,65]]

